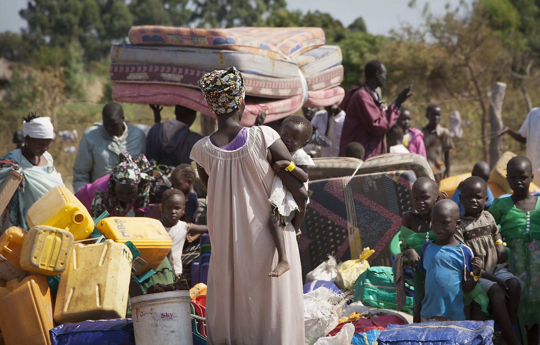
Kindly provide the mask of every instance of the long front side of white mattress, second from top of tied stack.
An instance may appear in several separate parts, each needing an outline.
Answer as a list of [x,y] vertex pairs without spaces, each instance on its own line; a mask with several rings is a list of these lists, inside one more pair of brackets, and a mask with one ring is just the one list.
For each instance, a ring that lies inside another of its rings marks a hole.
[[[318,49],[315,48],[315,50]],[[231,50],[196,47],[114,44],[111,47],[110,57],[113,64],[175,65],[197,67],[208,71],[234,66],[242,73],[273,78],[298,78],[299,69],[291,61]]]

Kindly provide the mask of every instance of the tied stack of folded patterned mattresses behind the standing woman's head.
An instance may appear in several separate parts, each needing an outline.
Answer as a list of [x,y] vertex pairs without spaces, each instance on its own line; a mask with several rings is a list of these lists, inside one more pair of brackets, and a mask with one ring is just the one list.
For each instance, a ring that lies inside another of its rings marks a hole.
[[253,125],[261,110],[271,122],[345,96],[340,48],[324,45],[319,27],[133,26],[129,39],[131,44],[111,47],[109,75],[117,102],[179,104],[214,116],[199,79],[231,66],[246,85],[245,125]]

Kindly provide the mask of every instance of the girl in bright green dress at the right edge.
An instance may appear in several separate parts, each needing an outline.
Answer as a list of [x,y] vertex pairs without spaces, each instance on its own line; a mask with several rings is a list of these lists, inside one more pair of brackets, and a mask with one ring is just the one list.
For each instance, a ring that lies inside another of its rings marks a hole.
[[537,344],[540,322],[540,201],[529,192],[532,179],[532,165],[527,157],[510,159],[507,180],[514,194],[495,199],[489,213],[501,226],[503,239],[512,250],[515,275],[522,281],[519,321],[527,326],[529,344]]

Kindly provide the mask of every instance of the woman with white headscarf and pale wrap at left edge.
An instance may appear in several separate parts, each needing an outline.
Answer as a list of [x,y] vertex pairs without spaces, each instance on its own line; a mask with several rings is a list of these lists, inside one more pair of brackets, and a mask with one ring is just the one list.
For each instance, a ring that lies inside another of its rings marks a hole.
[[0,159],[0,185],[14,165],[22,168],[24,177],[0,217],[0,233],[10,226],[28,230],[26,211],[30,206],[52,187],[64,186],[62,175],[56,171],[52,156],[47,152],[54,136],[51,118],[30,112],[23,119],[24,146]]

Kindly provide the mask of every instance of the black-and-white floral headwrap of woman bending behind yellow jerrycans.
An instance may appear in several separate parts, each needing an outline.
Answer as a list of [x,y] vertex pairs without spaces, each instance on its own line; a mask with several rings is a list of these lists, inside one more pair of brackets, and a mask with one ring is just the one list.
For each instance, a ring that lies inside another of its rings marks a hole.
[[149,170],[150,163],[144,154],[141,153],[132,159],[129,152],[126,151],[118,155],[111,179],[121,185],[137,185],[141,179],[146,178],[146,173]]

